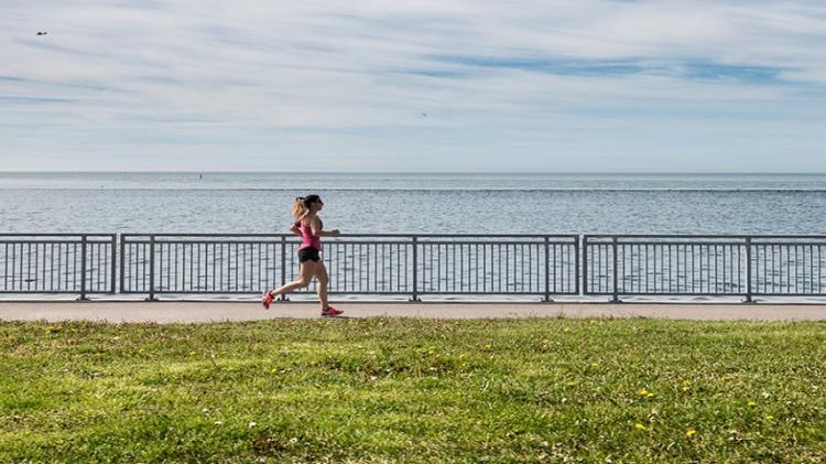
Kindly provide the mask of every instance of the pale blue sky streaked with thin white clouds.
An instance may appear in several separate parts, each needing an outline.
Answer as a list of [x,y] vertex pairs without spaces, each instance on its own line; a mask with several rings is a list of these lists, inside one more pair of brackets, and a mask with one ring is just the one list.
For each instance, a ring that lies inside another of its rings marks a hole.
[[824,44],[820,0],[2,0],[0,171],[826,172]]

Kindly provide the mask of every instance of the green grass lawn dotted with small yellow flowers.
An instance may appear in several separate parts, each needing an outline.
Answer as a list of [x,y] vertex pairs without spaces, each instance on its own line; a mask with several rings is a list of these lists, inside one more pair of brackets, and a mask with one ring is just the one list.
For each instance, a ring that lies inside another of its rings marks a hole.
[[826,323],[0,323],[0,462],[820,461]]

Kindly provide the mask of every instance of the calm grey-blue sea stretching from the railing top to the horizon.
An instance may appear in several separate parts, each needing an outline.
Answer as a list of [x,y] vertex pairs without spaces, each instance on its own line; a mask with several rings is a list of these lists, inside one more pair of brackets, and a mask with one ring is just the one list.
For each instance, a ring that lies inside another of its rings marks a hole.
[[4,233],[826,234],[825,174],[0,173]]

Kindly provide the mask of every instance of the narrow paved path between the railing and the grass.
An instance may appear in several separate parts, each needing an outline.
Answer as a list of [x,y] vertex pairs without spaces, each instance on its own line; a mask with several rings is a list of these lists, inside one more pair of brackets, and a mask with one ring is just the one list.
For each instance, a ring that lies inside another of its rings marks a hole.
[[[659,317],[702,321],[826,321],[826,304],[719,303],[410,303],[341,302],[348,317]],[[0,302],[0,321],[203,323],[319,317],[318,303],[258,302]]]

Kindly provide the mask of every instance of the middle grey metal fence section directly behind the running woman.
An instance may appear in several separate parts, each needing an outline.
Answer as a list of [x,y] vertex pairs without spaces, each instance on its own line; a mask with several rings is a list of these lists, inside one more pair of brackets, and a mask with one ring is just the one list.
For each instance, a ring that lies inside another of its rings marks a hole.
[[[135,235],[120,242],[123,293],[258,293],[298,279],[286,235]],[[348,235],[326,240],[336,294],[577,294],[577,236]],[[306,292],[314,292],[313,283]]]

